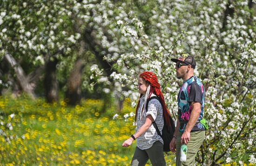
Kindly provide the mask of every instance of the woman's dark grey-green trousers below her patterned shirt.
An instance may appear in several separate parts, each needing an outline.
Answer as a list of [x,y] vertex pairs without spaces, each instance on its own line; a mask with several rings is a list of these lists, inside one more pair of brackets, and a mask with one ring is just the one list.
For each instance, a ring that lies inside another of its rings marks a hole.
[[153,166],[166,165],[163,155],[163,144],[160,141],[156,141],[149,149],[141,150],[136,147],[131,166],[145,166],[148,159]]

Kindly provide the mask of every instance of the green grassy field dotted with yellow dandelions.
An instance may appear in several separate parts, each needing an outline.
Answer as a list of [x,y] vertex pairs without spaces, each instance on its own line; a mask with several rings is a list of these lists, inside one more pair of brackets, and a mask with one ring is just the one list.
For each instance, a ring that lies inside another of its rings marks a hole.
[[[85,100],[67,107],[65,101],[47,104],[22,97],[0,98],[0,163],[3,166],[88,165],[128,166],[136,143],[121,144],[131,134],[134,116],[127,100],[122,113],[115,107],[102,113],[103,102]],[[113,119],[113,115],[119,118]],[[168,165],[174,155],[166,154]],[[150,165],[150,162],[148,162]]]

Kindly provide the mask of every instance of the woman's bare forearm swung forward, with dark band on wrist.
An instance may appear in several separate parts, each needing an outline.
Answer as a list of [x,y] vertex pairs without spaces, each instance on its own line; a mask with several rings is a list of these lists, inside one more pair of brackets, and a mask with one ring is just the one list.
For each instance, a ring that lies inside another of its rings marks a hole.
[[[141,128],[138,130],[137,133],[134,134],[135,138],[138,138],[141,136],[141,134],[145,133],[147,129],[152,125],[152,122],[154,121],[153,117],[151,115],[146,116],[145,123],[141,126]],[[129,147],[133,143],[134,139],[132,137],[128,138],[126,141],[123,142],[123,147]]]

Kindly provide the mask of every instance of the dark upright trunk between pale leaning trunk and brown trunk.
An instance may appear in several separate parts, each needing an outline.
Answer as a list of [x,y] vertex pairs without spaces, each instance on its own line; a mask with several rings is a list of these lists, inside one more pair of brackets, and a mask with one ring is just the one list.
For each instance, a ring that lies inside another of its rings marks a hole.
[[59,85],[56,76],[57,64],[58,60],[56,58],[53,61],[49,60],[46,64],[44,86],[47,102],[58,102],[59,100]]

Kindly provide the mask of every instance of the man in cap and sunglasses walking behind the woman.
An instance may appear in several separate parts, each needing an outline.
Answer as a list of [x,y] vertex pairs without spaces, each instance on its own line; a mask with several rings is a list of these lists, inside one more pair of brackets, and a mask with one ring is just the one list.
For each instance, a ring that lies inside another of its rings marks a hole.
[[[170,149],[172,152],[176,149],[176,166],[194,166],[195,155],[205,138],[205,128],[200,123],[203,118],[204,87],[194,76],[196,63],[193,57],[183,54],[171,60],[176,63],[176,75],[182,78],[183,85],[178,94],[178,121]],[[182,144],[187,145],[187,160],[181,162]]]

